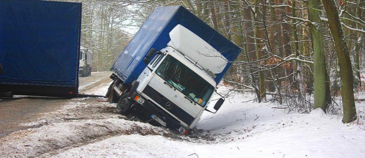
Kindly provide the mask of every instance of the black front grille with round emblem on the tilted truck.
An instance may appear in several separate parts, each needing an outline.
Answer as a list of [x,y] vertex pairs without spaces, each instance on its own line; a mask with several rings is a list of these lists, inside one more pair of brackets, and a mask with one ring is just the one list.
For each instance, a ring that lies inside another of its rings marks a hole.
[[[168,100],[166,97],[164,97],[161,93],[159,93],[157,90],[152,88],[151,86],[147,85],[146,88],[143,90],[144,94],[146,94],[148,97],[150,97],[152,100],[154,100],[156,103],[158,103],[160,106],[162,106],[163,110],[166,110],[176,116],[177,118],[181,119],[186,124],[190,125],[194,121],[194,117],[189,115],[187,112],[182,110],[180,107],[172,103],[170,100]],[[166,108],[166,103],[171,103],[171,109]]]

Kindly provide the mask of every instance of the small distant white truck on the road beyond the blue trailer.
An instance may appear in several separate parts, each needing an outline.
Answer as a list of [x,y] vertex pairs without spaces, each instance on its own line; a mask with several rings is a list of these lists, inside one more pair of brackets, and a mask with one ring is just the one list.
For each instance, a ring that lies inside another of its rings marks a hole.
[[81,77],[91,76],[91,66],[92,66],[92,53],[91,50],[80,47],[80,66],[79,75]]

